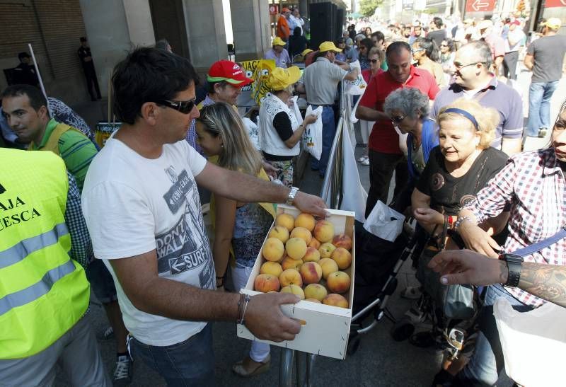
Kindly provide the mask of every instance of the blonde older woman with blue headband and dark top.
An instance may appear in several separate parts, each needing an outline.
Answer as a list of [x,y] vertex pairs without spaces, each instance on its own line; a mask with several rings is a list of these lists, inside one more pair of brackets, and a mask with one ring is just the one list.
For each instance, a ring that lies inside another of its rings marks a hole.
[[415,219],[432,236],[454,226],[456,215],[501,170],[507,155],[490,146],[499,113],[475,100],[459,98],[437,117],[439,146],[432,149],[415,185]]

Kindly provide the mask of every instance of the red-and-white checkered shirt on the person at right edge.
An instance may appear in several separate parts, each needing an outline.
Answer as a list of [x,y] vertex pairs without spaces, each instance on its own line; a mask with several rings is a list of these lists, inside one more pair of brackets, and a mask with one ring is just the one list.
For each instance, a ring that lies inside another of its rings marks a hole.
[[[566,224],[566,178],[554,149],[524,152],[509,158],[505,166],[466,205],[478,223],[501,213],[511,204],[509,237],[504,251],[543,241]],[[538,253],[524,257],[526,262],[566,265],[566,238]],[[519,288],[507,288],[522,303],[534,307],[544,301]]]

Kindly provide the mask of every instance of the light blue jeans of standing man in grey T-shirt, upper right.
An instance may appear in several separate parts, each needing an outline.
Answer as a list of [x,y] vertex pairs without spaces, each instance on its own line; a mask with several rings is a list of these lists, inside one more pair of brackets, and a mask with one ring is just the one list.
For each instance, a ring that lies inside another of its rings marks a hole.
[[558,87],[558,81],[533,82],[529,86],[529,122],[526,135],[538,136],[538,129],[550,128],[550,98]]

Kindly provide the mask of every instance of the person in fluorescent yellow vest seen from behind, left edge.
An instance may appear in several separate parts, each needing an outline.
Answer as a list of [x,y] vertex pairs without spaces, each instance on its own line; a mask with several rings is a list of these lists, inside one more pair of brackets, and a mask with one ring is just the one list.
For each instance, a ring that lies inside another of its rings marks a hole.
[[0,149],[0,165],[0,384],[50,386],[59,363],[73,386],[110,386],[83,317],[76,183],[51,152]]

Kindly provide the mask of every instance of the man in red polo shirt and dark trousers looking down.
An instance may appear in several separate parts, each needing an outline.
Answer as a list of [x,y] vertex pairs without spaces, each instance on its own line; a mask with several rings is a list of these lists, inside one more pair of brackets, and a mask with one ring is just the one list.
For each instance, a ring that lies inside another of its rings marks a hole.
[[429,71],[411,65],[411,47],[408,43],[391,43],[387,47],[386,57],[388,71],[371,79],[356,110],[357,118],[376,122],[369,135],[369,193],[366,216],[378,200],[386,203],[393,171],[395,196],[405,187],[408,180],[407,161],[399,148],[399,136],[393,128],[392,117],[383,112],[383,102],[392,91],[402,87],[418,88],[431,100],[439,92]]

